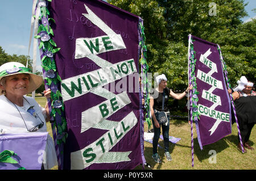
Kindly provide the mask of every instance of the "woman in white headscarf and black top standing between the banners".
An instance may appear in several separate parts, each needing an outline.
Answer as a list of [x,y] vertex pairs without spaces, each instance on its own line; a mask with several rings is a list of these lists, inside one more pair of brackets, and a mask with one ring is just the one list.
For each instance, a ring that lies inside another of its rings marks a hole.
[[[163,139],[164,139],[164,155],[166,156],[167,161],[171,161],[171,155],[169,153],[169,127],[170,127],[170,112],[168,109],[168,99],[171,96],[175,99],[182,99],[188,92],[188,89],[192,89],[192,86],[189,86],[187,90],[182,92],[181,94],[175,94],[172,90],[167,87],[167,78],[166,75],[158,75],[156,77],[156,82],[158,83],[158,87],[154,89],[150,96],[150,110],[152,115],[152,125],[154,127],[154,137],[153,137],[153,155],[155,162],[160,163],[160,157],[158,155],[158,140],[160,137],[160,126],[162,126],[163,132]],[[164,96],[164,112],[167,115],[167,123],[159,124],[159,120],[156,119],[158,117],[158,113],[162,111],[162,103],[163,103],[163,96]]]

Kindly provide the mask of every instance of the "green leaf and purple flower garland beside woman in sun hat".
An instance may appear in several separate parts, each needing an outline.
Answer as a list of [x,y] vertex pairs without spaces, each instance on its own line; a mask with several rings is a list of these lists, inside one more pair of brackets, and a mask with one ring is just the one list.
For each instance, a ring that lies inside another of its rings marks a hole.
[[[42,2],[43,0],[41,0]],[[51,2],[50,0],[47,0],[48,2]],[[60,48],[57,48],[57,45],[55,41],[52,40],[52,36],[54,36],[53,30],[51,26],[49,26],[49,21],[51,23],[55,23],[55,20],[53,18],[48,18],[49,11],[46,6],[40,6],[40,17],[39,17],[39,23],[40,26],[38,28],[38,35],[35,36],[36,39],[39,39],[39,49],[42,50],[43,52],[43,57],[42,57],[42,68],[44,71],[53,71],[54,76],[52,77],[44,77],[44,80],[46,81],[46,85],[48,85],[50,88],[52,84],[57,86],[61,82],[60,75],[56,71],[56,64],[54,60],[53,54],[59,52]],[[42,20],[44,22],[42,23]],[[47,54],[48,53],[48,54]],[[57,144],[63,144],[65,143],[65,140],[68,136],[67,134],[67,120],[65,119],[65,113],[64,113],[64,104],[62,100],[62,95],[59,90],[56,92],[51,91],[51,117],[54,119],[54,124],[53,128],[56,128],[57,131]],[[54,106],[55,102],[59,101],[61,102],[61,105],[56,107]],[[60,115],[61,117],[61,123],[58,123],[56,125],[56,113]],[[61,136],[60,136],[61,135]]]

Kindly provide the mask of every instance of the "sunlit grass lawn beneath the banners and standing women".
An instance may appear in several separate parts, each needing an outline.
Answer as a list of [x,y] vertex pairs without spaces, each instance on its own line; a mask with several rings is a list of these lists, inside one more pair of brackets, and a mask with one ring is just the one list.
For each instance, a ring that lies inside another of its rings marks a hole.
[[[38,103],[44,107],[46,105],[46,98],[36,97]],[[152,128],[152,126],[151,126]],[[47,123],[49,134],[51,133],[51,124]],[[144,132],[147,132],[147,125],[144,124]],[[170,153],[172,161],[167,161],[164,157],[164,150],[158,148],[158,153],[162,159],[162,163],[155,163],[152,159],[152,144],[144,142],[144,155],[147,163],[152,166],[154,170],[255,170],[256,169],[256,127],[251,132],[249,144],[255,150],[248,150],[247,153],[242,154],[237,150],[237,125],[232,125],[232,134],[222,138],[221,140],[203,146],[200,150],[196,127],[193,126],[193,142],[194,142],[194,167],[191,166],[191,126],[188,120],[185,119],[171,119],[170,121],[170,136],[181,138],[176,144],[170,142]],[[163,141],[159,139],[159,145],[163,147]],[[216,151],[216,163],[211,163],[213,155],[209,153],[210,150]],[[53,168],[57,169],[57,168]],[[142,169],[142,166],[137,166],[135,169]],[[148,170],[147,167],[145,167]]]

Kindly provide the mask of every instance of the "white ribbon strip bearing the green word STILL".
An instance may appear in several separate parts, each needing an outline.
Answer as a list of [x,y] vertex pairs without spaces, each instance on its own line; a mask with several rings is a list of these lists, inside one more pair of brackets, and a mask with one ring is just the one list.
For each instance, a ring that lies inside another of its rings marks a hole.
[[[138,123],[137,117],[131,111],[98,140],[85,148],[71,153],[71,169],[84,169],[93,163],[115,163],[129,161],[130,151],[111,153],[111,150]],[[124,142],[122,144],[125,144]],[[110,157],[110,155],[112,157]],[[103,157],[103,158],[102,158]]]

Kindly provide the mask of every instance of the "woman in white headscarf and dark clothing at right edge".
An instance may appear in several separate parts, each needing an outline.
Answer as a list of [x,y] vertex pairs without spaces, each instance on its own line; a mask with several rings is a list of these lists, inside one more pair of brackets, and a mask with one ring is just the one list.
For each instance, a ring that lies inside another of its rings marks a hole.
[[[236,107],[237,120],[241,132],[242,142],[245,148],[253,150],[248,141],[251,130],[256,123],[256,92],[253,91],[253,82],[247,81],[246,77],[244,76],[242,76],[240,81],[237,83],[238,86],[234,89],[232,96]],[[237,148],[238,150],[242,151],[239,138]]]

